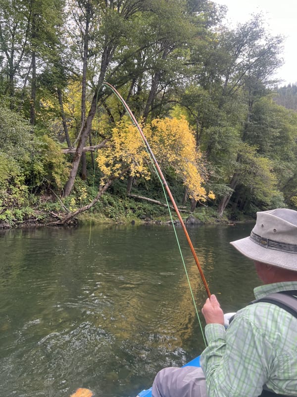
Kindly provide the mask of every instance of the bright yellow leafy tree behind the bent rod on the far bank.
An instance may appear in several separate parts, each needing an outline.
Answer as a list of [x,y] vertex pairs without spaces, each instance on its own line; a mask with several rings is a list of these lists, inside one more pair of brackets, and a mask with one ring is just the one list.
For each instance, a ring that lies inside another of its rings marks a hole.
[[[214,198],[202,186],[206,178],[202,155],[185,118],[155,119],[143,131],[160,167],[182,181],[190,198],[199,201]],[[97,161],[103,174],[102,184],[111,178],[123,178],[124,174],[145,179],[151,176],[145,143],[127,118],[116,124],[108,146],[100,149]]]

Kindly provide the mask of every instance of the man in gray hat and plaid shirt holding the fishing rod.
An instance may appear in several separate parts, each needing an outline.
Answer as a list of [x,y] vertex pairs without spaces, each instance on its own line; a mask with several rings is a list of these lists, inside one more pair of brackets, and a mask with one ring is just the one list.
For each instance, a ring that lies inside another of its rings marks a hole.
[[[211,295],[202,309],[208,346],[201,368],[164,368],[152,397],[297,396],[297,211],[258,212],[250,236],[231,244],[254,262],[264,284],[254,295],[264,302],[238,311],[226,330]],[[270,294],[290,301],[291,313],[287,304],[269,302]]]

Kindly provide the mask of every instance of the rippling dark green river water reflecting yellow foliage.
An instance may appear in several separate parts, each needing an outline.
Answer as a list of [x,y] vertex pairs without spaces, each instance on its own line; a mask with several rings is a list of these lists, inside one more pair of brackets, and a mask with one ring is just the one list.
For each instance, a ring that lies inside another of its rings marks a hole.
[[[225,312],[253,299],[253,265],[230,246],[252,224],[190,227]],[[200,308],[206,293],[176,229]],[[204,347],[172,226],[105,225],[0,233],[0,395],[128,397]]]

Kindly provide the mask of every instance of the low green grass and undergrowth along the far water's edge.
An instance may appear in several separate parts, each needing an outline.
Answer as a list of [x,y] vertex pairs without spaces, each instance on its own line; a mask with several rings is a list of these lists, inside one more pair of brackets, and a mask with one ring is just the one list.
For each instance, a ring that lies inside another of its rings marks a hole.
[[[73,197],[60,200],[54,196],[41,197],[31,205],[22,208],[12,208],[0,214],[0,228],[11,228],[22,225],[47,225],[53,216],[63,216],[68,211],[78,208],[78,202]],[[162,200],[164,202],[164,200]],[[85,204],[84,204],[85,205]],[[190,215],[190,206],[182,208],[189,212],[181,212],[183,220]],[[178,220],[174,209],[171,209],[173,220]],[[192,213],[203,223],[227,222],[227,216],[218,218],[215,207],[197,207]],[[166,207],[149,203],[141,199],[118,197],[110,193],[102,196],[91,210],[82,212],[76,218],[78,224],[100,223],[131,223],[170,222],[170,214]]]

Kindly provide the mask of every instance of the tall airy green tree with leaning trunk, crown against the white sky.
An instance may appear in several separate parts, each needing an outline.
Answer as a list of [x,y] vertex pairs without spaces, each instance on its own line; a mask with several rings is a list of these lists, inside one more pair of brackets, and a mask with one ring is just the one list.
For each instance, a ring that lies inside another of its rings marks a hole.
[[[219,118],[217,128],[230,128],[236,125],[236,139],[240,139],[239,151],[234,153],[234,172],[225,180],[228,191],[221,196],[218,213],[223,214],[236,186],[244,181],[246,157],[241,154],[247,142],[247,129],[257,99],[269,92],[273,84],[273,74],[282,64],[281,37],[271,36],[263,27],[262,17],[256,15],[251,21],[240,24],[235,30],[223,32],[222,45],[228,56],[224,57],[224,71],[221,74],[222,90],[218,98]],[[221,67],[221,66],[220,66]],[[239,112],[239,109],[241,110]],[[222,117],[222,113],[224,117]],[[240,116],[240,118],[239,118]],[[237,123],[234,124],[237,119]],[[232,145],[232,135],[230,135]],[[207,138],[206,138],[207,139]],[[234,146],[234,145],[233,145]],[[207,142],[207,153],[214,159],[215,147]],[[229,165],[227,165],[229,169]],[[232,172],[232,171],[231,171]]]

